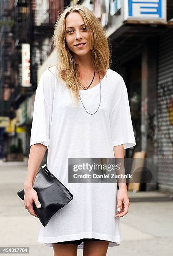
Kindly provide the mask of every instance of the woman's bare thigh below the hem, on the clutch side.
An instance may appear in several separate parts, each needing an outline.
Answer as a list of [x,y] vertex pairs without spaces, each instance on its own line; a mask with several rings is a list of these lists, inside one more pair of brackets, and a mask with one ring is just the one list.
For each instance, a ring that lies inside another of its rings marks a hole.
[[77,256],[78,245],[53,243],[54,256]]

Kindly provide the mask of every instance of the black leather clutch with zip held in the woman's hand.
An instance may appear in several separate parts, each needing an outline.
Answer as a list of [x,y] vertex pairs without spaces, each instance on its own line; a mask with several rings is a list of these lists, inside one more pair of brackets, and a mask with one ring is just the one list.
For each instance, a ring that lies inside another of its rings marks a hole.
[[[40,222],[45,227],[50,218],[73,200],[70,191],[48,170],[47,164],[38,171],[33,189],[36,190],[41,207],[37,208],[33,202],[33,209]],[[18,196],[24,200],[24,189],[18,191]]]

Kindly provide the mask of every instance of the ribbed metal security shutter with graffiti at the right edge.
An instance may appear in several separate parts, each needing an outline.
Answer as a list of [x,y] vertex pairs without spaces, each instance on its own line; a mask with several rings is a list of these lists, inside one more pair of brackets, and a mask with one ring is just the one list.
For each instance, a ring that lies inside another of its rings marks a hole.
[[[173,190],[173,29],[158,38],[157,61],[158,186]],[[169,159],[169,161],[168,161]]]

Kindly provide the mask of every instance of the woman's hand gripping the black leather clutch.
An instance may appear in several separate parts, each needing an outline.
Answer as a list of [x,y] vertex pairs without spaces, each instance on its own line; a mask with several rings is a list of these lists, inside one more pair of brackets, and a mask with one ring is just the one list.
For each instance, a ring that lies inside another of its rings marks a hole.
[[24,188],[24,191],[25,191],[25,195],[24,195],[23,202],[25,205],[25,209],[27,209],[31,215],[38,218],[38,216],[36,215],[36,213],[33,209],[33,202],[35,202],[36,207],[38,207],[38,208],[41,207],[41,204],[38,201],[37,192],[33,188]]

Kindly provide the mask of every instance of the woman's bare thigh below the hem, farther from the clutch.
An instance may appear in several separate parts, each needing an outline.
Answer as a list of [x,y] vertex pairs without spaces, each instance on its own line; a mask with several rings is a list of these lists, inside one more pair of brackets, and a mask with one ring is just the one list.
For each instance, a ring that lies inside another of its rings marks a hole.
[[93,239],[83,241],[83,256],[106,256],[109,241]]

